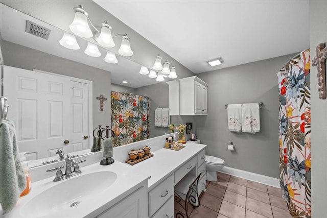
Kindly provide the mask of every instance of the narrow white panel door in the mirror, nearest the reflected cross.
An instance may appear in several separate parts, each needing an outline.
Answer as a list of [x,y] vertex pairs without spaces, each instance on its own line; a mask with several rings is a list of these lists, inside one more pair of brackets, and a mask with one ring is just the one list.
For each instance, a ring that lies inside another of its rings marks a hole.
[[[89,85],[71,81],[71,144],[73,151],[89,149]],[[84,138],[85,137],[85,138]]]

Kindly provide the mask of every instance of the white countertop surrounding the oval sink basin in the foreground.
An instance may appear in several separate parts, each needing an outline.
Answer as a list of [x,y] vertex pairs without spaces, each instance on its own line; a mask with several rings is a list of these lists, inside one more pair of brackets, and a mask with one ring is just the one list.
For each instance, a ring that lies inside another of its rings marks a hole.
[[[135,169],[135,168],[134,168]],[[88,216],[90,213],[94,212],[95,210],[105,206],[111,206],[121,200],[121,196],[129,191],[131,188],[135,187],[139,183],[142,183],[150,178],[150,174],[147,172],[136,172],[133,168],[127,167],[124,163],[119,161],[115,161],[111,165],[102,166],[99,163],[90,164],[88,166],[81,167],[82,173],[73,176],[71,178],[53,182],[55,177],[55,172],[53,172],[53,177],[43,179],[37,182],[32,183],[31,192],[19,198],[18,203],[13,211],[6,214],[4,218],[7,217],[36,217],[33,214],[26,214],[24,213],[24,205],[26,205],[30,200],[36,197],[42,191],[51,188],[55,185],[58,185],[61,182],[65,182],[69,179],[77,178],[79,176],[83,176],[89,173],[95,173],[100,171],[110,171],[116,173],[117,179],[116,181],[109,186],[108,188],[104,189],[99,193],[95,193],[94,195],[90,196],[87,200],[85,200],[84,204],[81,201],[80,204],[70,207],[69,209],[65,209],[64,211],[58,210],[57,212],[46,214],[40,217],[85,217]],[[95,178],[96,179],[96,178]],[[51,196],[49,196],[51,198]],[[63,198],[62,201],[64,202],[65,199]],[[35,211],[41,209],[41,205],[35,205]],[[67,206],[68,208],[68,206]]]

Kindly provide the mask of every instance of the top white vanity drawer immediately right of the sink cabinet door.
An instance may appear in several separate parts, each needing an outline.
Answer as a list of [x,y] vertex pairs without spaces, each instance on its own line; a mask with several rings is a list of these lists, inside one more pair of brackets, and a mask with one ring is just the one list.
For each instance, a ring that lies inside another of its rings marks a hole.
[[174,178],[171,175],[149,192],[149,216],[152,216],[173,195]]

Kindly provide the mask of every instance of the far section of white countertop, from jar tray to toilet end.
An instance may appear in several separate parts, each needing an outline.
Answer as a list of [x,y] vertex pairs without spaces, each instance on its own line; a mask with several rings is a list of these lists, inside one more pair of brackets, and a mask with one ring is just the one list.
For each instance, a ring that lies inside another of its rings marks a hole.
[[154,152],[153,157],[146,159],[135,165],[129,165],[135,171],[144,172],[151,175],[148,180],[149,191],[154,188],[158,183],[168,177],[176,168],[187,162],[194,157],[199,151],[206,147],[205,144],[186,143],[183,144],[185,148],[174,151],[170,149],[159,149]]

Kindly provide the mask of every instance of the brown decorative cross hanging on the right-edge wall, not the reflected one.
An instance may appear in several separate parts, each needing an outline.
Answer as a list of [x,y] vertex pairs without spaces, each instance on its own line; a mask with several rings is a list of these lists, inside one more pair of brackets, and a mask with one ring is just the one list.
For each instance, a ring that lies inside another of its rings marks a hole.
[[318,69],[318,92],[319,99],[326,99],[326,72],[325,60],[327,59],[327,47],[325,43],[320,43],[316,47],[317,56],[312,60],[312,66],[317,66]]

